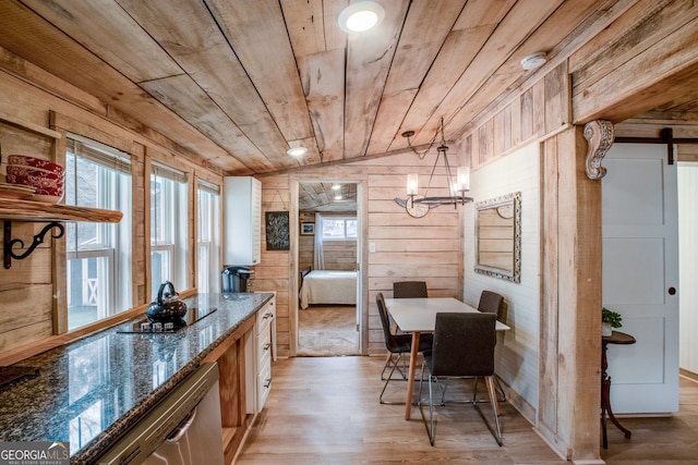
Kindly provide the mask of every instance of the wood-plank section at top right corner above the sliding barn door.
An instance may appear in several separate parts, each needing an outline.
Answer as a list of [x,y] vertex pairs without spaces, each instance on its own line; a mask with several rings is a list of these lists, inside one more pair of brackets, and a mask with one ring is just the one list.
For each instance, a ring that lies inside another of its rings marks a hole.
[[569,58],[575,122],[624,121],[690,91],[698,72],[698,5],[635,2]]

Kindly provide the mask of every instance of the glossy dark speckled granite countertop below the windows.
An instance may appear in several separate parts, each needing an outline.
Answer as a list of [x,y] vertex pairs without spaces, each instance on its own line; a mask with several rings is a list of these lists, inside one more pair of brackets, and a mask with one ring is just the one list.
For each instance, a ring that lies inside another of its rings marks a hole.
[[273,296],[197,294],[188,308],[216,311],[174,333],[119,333],[130,320],[15,364],[39,372],[0,392],[0,441],[70,441],[91,463]]

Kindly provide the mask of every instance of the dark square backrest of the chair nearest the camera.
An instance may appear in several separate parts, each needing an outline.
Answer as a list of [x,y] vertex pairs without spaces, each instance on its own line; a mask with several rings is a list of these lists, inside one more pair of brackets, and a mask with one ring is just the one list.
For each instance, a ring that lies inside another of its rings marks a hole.
[[496,315],[436,314],[429,368],[434,376],[494,375]]

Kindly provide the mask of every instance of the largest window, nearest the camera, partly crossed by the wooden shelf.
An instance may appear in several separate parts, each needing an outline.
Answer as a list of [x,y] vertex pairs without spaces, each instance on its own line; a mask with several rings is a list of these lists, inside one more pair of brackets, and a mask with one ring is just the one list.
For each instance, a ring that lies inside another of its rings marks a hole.
[[65,204],[123,212],[118,223],[65,224],[68,329],[133,306],[129,155],[80,136],[68,138]]

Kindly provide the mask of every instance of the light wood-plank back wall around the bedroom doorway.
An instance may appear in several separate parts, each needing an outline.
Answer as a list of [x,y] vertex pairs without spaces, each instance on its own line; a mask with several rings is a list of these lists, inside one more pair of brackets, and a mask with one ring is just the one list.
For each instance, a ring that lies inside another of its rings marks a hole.
[[[366,354],[383,354],[385,345],[381,321],[375,306],[375,296],[383,292],[387,297],[393,293],[393,282],[398,280],[424,280],[430,295],[462,295],[462,207],[454,209],[443,206],[432,209],[423,218],[410,217],[395,198],[405,198],[407,174],[418,172],[420,184],[425,186],[436,154],[419,160],[412,152],[383,158],[356,161],[341,166],[304,169],[288,176],[260,176],[263,198],[272,198],[276,191],[298,195],[298,182],[347,181],[360,183],[359,219],[364,234],[364,249],[361,261],[365,287],[363,306],[363,351]],[[452,155],[453,163],[461,158]],[[443,180],[442,180],[443,181]],[[433,181],[438,183],[436,179]],[[444,184],[445,185],[445,184]],[[293,193],[294,192],[294,193]],[[279,290],[297,289],[296,254],[299,250],[298,228],[300,218],[291,201],[291,250],[282,253],[286,258],[267,256],[263,252],[262,264],[255,267],[255,290],[263,285],[278,284]],[[267,206],[263,205],[263,209]],[[369,254],[370,244],[375,244],[375,253]],[[267,253],[269,254],[269,253]],[[274,264],[274,265],[272,265]],[[280,267],[287,265],[286,286],[281,286]],[[278,299],[277,299],[278,302]],[[279,310],[281,308],[279,307]],[[285,311],[288,311],[286,314]],[[296,328],[298,320],[298,297],[289,298],[288,309],[279,311],[277,333],[279,355],[294,355]]]

